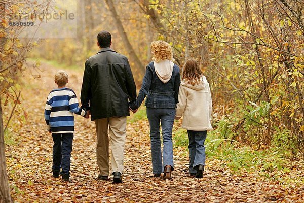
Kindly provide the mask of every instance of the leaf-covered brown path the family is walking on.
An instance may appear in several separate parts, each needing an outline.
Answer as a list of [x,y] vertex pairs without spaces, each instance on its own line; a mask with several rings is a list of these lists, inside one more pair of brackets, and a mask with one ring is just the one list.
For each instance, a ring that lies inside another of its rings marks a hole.
[[[232,173],[224,161],[207,158],[201,180],[189,177],[185,150],[174,150],[175,171],[171,180],[151,173],[149,129],[146,119],[128,123],[125,170],[122,184],[96,180],[95,124],[75,115],[71,159],[72,183],[53,178],[52,138],[45,130],[44,104],[55,88],[56,69],[42,65],[40,79],[25,73],[22,78],[23,105],[28,122],[18,142],[7,147],[7,163],[12,195],[16,202],[273,202],[303,201],[299,190],[284,189],[278,183],[252,174]],[[68,87],[80,97],[81,70],[67,70]],[[177,127],[177,126],[176,126]],[[110,176],[111,177],[111,176]]]

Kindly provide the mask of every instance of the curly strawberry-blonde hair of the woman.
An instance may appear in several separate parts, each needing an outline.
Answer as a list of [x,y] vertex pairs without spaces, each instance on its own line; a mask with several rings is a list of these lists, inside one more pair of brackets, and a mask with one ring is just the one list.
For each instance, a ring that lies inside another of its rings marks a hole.
[[151,42],[152,60],[160,62],[161,60],[173,61],[173,51],[169,43],[158,40]]

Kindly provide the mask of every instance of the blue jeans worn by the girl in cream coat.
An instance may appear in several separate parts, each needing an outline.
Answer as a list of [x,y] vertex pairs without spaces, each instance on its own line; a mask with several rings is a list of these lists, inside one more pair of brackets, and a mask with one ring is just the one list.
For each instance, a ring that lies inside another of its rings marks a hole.
[[190,164],[189,172],[196,173],[199,165],[205,165],[205,140],[207,131],[187,130],[189,137]]

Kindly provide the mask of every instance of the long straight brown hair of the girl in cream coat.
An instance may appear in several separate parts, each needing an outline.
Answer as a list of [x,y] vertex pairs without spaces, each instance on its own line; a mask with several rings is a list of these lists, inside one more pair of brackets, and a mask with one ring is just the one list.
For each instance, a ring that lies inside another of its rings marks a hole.
[[183,66],[182,80],[194,86],[201,83],[202,75],[203,72],[200,69],[199,63],[193,58],[188,59]]

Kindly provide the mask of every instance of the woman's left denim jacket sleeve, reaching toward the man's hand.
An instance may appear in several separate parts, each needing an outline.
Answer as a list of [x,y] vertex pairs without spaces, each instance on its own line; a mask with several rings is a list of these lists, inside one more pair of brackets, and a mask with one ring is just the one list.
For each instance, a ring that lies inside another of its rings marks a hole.
[[153,73],[151,72],[149,66],[146,67],[146,73],[143,77],[143,80],[142,80],[142,85],[141,85],[141,88],[139,90],[139,93],[138,93],[138,97],[137,99],[131,103],[130,105],[130,108],[132,110],[136,110],[140,107],[143,99],[146,97],[146,95],[148,94],[148,91],[150,89],[150,86],[151,86],[151,82],[152,82],[152,77],[153,77]]

